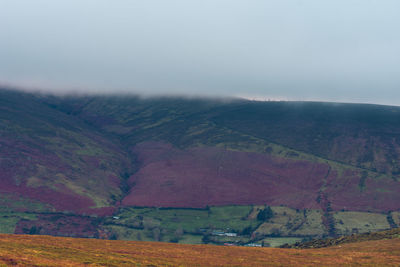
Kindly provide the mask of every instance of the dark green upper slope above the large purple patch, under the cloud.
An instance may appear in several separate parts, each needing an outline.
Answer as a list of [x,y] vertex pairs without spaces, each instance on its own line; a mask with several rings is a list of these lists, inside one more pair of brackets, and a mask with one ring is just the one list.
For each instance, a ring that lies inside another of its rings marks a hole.
[[317,102],[88,97],[62,101],[76,114],[131,144],[178,147],[273,142],[385,174],[400,174],[400,108]]

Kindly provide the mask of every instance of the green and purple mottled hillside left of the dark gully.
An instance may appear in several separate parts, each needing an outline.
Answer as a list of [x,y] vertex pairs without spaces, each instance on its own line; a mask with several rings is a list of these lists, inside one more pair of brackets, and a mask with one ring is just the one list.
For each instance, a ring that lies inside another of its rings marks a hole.
[[[100,214],[121,198],[130,160],[90,125],[12,91],[0,91],[0,124],[0,193],[50,210]],[[9,199],[13,209],[26,208]]]

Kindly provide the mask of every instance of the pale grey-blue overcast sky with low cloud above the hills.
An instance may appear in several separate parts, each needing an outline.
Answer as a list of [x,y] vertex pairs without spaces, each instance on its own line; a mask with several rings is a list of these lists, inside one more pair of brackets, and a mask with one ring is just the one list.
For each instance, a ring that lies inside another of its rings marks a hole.
[[400,1],[0,0],[0,83],[400,105]]

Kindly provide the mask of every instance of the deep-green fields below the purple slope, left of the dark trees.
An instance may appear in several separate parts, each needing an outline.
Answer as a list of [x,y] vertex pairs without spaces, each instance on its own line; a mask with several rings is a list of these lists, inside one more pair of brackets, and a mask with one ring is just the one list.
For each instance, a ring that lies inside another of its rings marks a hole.
[[[207,209],[123,208],[105,227],[116,238],[157,240],[179,243],[227,242],[214,232],[240,234],[246,228],[256,229],[260,222],[249,219],[252,206],[209,207]],[[249,241],[250,232],[241,242]]]

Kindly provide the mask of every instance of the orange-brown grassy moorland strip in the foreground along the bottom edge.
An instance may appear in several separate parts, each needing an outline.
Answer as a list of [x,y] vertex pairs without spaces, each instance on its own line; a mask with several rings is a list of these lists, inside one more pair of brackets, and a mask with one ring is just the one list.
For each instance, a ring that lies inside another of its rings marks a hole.
[[0,264],[17,266],[399,266],[400,239],[278,249],[0,235]]

